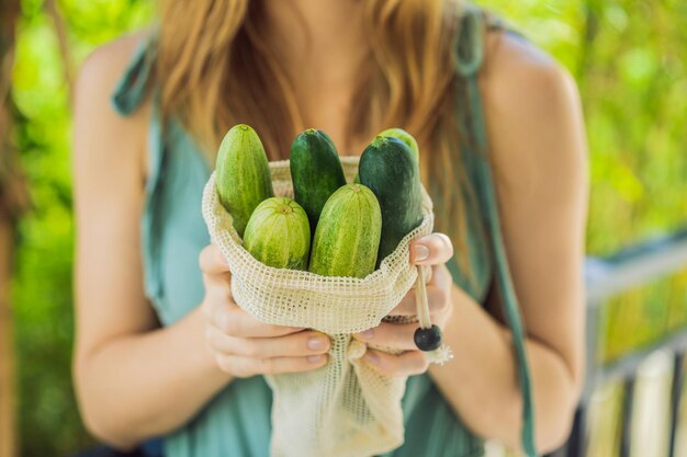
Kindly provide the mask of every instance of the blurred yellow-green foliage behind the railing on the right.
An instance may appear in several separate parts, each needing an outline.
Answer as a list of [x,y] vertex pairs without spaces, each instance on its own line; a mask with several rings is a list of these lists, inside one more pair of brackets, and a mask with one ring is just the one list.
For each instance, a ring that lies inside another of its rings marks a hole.
[[[484,0],[575,77],[589,138],[587,251],[687,225],[687,2]],[[687,325],[687,274],[604,308],[601,358]]]

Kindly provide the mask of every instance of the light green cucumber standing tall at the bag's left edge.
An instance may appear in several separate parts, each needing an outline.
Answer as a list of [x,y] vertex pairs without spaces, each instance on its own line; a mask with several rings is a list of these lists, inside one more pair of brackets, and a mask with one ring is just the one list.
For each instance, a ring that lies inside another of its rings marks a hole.
[[215,186],[219,202],[232,214],[234,228],[243,237],[256,207],[274,195],[262,141],[250,126],[235,125],[222,140]]

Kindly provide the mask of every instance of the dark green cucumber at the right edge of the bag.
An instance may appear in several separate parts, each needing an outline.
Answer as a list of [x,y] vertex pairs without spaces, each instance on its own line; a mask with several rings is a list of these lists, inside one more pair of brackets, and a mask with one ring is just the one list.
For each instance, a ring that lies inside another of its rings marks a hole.
[[423,221],[419,167],[408,145],[395,137],[378,136],[362,152],[358,172],[361,184],[372,190],[382,208],[379,266]]

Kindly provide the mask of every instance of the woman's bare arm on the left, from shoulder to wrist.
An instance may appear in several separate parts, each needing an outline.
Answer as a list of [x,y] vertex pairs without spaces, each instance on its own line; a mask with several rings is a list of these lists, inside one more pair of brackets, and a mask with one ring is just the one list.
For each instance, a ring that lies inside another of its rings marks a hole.
[[144,297],[139,218],[149,107],[122,118],[109,104],[136,42],[92,55],[75,103],[74,376],[87,426],[120,447],[183,424],[230,379],[206,350],[200,308],[159,329]]

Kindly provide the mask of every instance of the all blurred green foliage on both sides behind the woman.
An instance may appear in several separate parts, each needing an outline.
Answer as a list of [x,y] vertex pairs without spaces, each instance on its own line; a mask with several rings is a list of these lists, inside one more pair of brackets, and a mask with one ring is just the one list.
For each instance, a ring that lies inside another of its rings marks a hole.
[[[60,0],[72,59],[147,24],[149,0]],[[485,0],[579,84],[592,151],[588,251],[604,255],[687,224],[687,2]],[[65,62],[44,2],[24,0],[13,100],[34,207],[21,221],[13,299],[24,456],[91,443],[69,365],[72,235]],[[608,307],[606,356],[687,324],[687,275]]]

